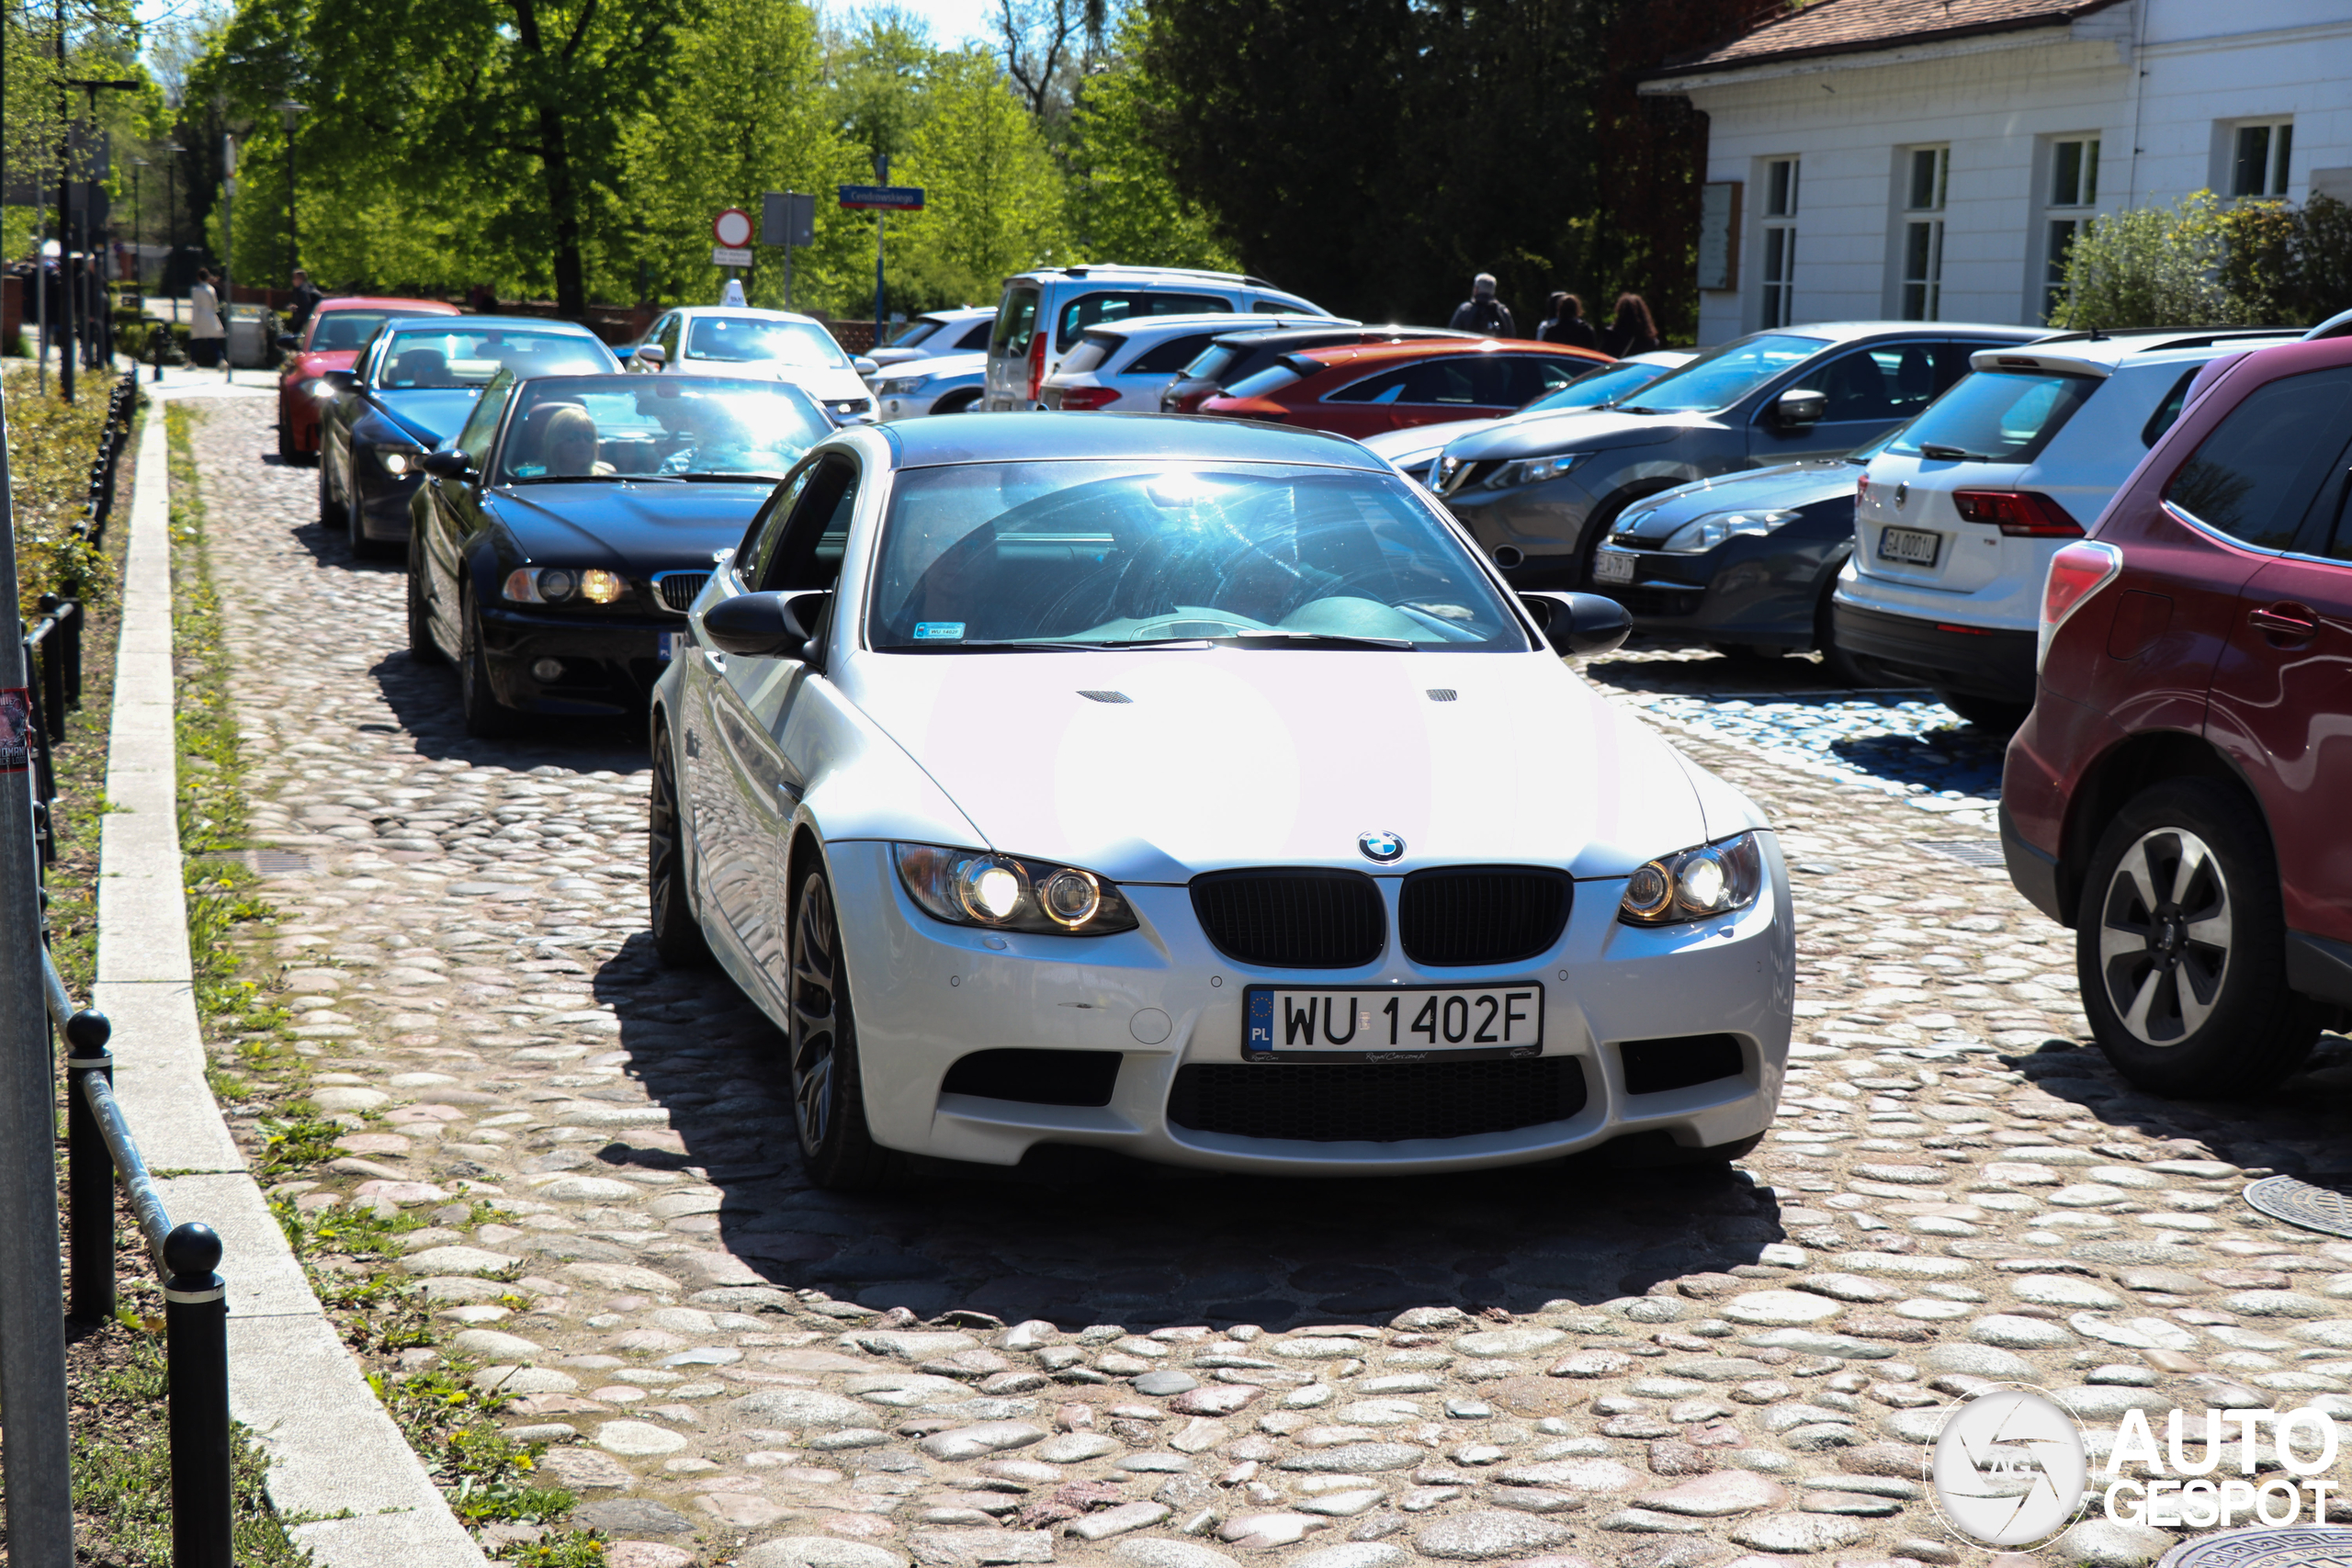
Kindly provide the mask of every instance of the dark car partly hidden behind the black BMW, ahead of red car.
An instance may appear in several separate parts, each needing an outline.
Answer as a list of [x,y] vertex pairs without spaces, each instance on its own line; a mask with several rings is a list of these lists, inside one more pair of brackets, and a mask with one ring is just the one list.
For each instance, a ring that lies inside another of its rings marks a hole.
[[348,371],[320,376],[318,520],[343,529],[353,555],[379,555],[409,534],[423,456],[456,435],[501,371],[600,376],[612,350],[572,322],[529,315],[395,315]]

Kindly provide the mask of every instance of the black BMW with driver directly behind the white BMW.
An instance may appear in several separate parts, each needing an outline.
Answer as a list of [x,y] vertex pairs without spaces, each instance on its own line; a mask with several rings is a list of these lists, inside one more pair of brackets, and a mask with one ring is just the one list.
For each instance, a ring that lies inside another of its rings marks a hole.
[[715,550],[833,421],[786,381],[501,374],[409,503],[409,654],[466,733],[642,715]]

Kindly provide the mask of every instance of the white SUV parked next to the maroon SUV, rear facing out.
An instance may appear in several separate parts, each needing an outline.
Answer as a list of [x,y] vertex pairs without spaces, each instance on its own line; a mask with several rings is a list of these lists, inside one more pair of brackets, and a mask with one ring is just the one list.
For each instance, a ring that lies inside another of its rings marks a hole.
[[1863,470],[1837,644],[1992,729],[2034,701],[2051,555],[2164,435],[2197,369],[2277,331],[2119,331],[1973,355],[1973,374]]

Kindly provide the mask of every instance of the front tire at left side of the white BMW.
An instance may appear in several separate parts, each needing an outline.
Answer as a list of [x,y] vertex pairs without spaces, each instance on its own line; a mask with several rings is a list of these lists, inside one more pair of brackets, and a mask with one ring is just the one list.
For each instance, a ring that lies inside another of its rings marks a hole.
[[823,870],[802,877],[793,896],[786,966],[793,1018],[786,1037],[793,1126],[800,1131],[800,1159],[809,1180],[828,1192],[884,1187],[898,1178],[903,1161],[866,1128],[849,966],[842,954],[842,926],[833,912],[833,882]]

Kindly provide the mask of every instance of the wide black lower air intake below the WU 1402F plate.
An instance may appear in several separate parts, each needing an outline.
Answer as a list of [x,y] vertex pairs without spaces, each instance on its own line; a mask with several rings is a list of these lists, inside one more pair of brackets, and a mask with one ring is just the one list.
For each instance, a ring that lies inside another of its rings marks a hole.
[[1585,1107],[1573,1056],[1472,1063],[1192,1063],[1169,1121],[1195,1133],[1298,1143],[1472,1138],[1566,1121]]

